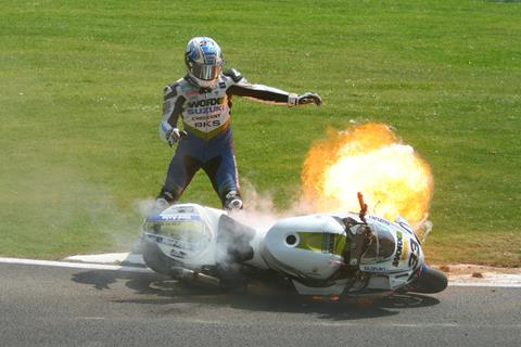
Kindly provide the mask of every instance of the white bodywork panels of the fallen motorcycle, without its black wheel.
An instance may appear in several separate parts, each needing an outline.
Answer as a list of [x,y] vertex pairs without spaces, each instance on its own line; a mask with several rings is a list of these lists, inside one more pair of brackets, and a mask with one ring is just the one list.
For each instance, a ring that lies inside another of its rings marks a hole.
[[[281,273],[306,295],[395,291],[409,284],[424,261],[412,228],[399,217],[390,222],[376,216],[364,221],[353,213],[308,215],[260,231],[224,215],[195,204],[174,205],[147,219],[142,237],[176,267],[193,271],[223,265],[230,249],[251,249],[233,261]],[[224,243],[223,235],[231,236]]]

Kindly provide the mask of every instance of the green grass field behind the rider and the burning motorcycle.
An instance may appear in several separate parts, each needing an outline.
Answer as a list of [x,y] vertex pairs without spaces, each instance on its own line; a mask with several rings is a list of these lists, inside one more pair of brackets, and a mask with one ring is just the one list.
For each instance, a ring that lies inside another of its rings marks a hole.
[[[521,265],[521,4],[0,1],[0,255],[124,250],[171,150],[163,86],[186,41],[320,108],[234,102],[241,178],[283,209],[328,127],[383,121],[432,166],[435,262]],[[218,206],[199,175],[186,202]]]

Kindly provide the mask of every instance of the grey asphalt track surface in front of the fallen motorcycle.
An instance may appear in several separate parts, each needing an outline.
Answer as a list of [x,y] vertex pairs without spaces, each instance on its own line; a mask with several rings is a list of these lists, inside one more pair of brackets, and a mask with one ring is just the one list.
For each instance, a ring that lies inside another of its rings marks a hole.
[[521,288],[313,303],[0,264],[0,346],[520,346]]

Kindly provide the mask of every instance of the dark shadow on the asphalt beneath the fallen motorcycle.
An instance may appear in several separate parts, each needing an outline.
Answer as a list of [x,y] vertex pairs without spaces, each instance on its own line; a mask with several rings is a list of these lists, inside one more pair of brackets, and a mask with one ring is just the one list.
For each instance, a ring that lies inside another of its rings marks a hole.
[[143,305],[195,304],[231,307],[252,311],[315,313],[328,320],[356,320],[398,314],[407,308],[429,307],[440,304],[432,297],[419,294],[393,294],[391,296],[350,296],[340,301],[313,300],[294,293],[275,292],[269,288],[249,287],[247,291],[201,287],[179,283],[155,273],[130,273],[120,271],[82,271],[72,281],[88,284],[99,291],[110,291],[111,285],[122,282],[134,291],[112,303]]

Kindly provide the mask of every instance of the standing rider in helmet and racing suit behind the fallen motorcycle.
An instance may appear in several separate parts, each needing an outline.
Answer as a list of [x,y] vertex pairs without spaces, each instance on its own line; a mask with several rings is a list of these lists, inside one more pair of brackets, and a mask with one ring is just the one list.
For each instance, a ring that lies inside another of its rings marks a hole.
[[[165,87],[160,136],[170,146],[178,143],[164,185],[156,198],[157,208],[177,202],[202,168],[226,209],[241,209],[239,178],[230,126],[231,99],[246,97],[290,107],[315,103],[315,93],[302,95],[280,89],[251,85],[236,69],[223,72],[223,52],[208,37],[192,38],[185,52],[188,74]],[[178,128],[181,118],[183,130]]]

